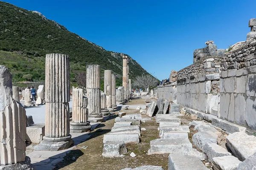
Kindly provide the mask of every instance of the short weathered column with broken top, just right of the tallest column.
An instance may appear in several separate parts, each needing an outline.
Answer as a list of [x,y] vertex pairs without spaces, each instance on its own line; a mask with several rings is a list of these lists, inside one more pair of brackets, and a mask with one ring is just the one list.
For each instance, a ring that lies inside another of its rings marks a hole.
[[73,89],[72,122],[70,122],[70,133],[83,133],[91,130],[88,121],[88,99],[84,96],[82,88]]

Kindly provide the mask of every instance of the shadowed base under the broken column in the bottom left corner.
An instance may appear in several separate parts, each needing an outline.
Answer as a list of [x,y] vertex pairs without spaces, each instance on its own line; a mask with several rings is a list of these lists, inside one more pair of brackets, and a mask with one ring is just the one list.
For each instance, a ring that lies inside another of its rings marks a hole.
[[26,156],[25,161],[21,161],[16,164],[0,165],[0,170],[35,170],[35,169],[32,167],[30,158]]

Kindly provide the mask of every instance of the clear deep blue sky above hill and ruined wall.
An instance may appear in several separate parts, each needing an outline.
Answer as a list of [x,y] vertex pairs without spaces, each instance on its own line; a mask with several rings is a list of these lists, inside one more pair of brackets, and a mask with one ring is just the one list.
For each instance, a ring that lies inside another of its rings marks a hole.
[[246,40],[256,0],[4,0],[39,11],[106,50],[130,55],[162,80],[193,63],[214,40],[227,48]]

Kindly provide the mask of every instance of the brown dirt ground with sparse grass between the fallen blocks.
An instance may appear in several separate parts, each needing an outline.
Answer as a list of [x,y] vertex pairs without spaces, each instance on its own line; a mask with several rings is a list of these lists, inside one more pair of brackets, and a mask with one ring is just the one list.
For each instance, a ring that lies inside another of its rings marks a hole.
[[[129,102],[129,105],[145,104],[145,99],[133,99]],[[116,112],[118,114],[119,111]],[[126,114],[139,113],[139,110],[126,110]],[[148,155],[150,148],[150,141],[160,138],[159,131],[157,130],[157,123],[155,118],[142,122],[141,128],[145,128],[145,131],[141,131],[140,144],[126,145],[128,153],[121,158],[105,158],[102,156],[103,149],[103,135],[111,131],[114,120],[117,115],[111,116],[106,122],[102,122],[95,130],[91,132],[91,138],[85,142],[78,144],[67,156],[64,157],[64,161],[58,163],[55,170],[121,170],[126,167],[138,167],[144,165],[162,166],[164,170],[168,169],[168,156],[169,154],[154,154]],[[144,118],[148,116],[143,115]],[[190,116],[181,116],[181,124],[188,125],[192,122]],[[190,129],[189,140],[192,142],[192,135],[197,131],[193,128]],[[196,148],[193,145],[194,148]],[[134,152],[136,157],[132,158],[130,153]],[[75,160],[72,158],[75,157]],[[207,161],[203,161],[204,164]],[[210,168],[209,166],[208,168]]]

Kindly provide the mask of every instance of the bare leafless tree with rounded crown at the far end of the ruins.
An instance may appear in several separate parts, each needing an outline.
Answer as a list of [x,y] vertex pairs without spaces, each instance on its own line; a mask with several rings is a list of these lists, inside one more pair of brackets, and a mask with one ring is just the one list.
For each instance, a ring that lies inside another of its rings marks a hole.
[[137,76],[133,82],[133,86],[137,88],[144,88],[146,92],[147,88],[153,88],[157,85],[158,79],[150,74],[143,74],[141,76]]

